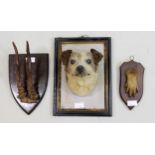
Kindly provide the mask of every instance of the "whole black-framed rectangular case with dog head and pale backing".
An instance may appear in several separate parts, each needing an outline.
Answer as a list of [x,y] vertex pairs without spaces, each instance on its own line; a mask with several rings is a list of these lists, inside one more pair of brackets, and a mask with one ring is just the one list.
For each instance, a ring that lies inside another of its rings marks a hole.
[[55,116],[111,116],[111,38],[55,38]]

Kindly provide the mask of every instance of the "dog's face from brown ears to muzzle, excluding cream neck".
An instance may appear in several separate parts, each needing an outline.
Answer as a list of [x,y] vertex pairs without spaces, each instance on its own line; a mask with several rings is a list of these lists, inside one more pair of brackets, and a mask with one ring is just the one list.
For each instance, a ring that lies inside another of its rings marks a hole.
[[[89,75],[88,70],[94,69],[97,71],[98,63],[103,55],[95,49],[90,49],[90,52],[73,52],[66,50],[62,53],[62,62],[68,72],[76,76]],[[74,72],[74,73],[73,73]]]

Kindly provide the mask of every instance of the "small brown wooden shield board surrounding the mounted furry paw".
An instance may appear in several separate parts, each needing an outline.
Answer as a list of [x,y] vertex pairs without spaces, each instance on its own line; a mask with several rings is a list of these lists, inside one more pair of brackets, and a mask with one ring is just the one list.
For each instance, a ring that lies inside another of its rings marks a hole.
[[[137,89],[132,95],[127,91],[127,71],[129,70],[137,74]],[[143,76],[144,67],[138,62],[131,60],[129,62],[124,62],[120,66],[120,96],[126,105],[127,101],[136,100],[138,103],[141,100],[143,95]],[[128,105],[127,107],[130,110],[134,108],[134,106]]]

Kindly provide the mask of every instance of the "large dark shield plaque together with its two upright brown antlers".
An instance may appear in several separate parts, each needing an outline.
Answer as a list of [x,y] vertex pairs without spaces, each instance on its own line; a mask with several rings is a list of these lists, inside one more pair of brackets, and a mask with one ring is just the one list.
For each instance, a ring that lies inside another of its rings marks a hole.
[[48,81],[48,54],[30,54],[28,41],[26,54],[19,54],[12,42],[15,55],[9,55],[9,80],[18,105],[30,114],[40,103]]

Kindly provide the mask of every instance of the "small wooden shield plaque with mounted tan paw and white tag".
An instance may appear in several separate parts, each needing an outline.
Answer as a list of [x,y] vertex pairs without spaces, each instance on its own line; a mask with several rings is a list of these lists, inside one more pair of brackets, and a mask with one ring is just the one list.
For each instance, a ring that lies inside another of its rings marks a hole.
[[144,67],[133,60],[120,66],[120,96],[131,110],[143,95]]

